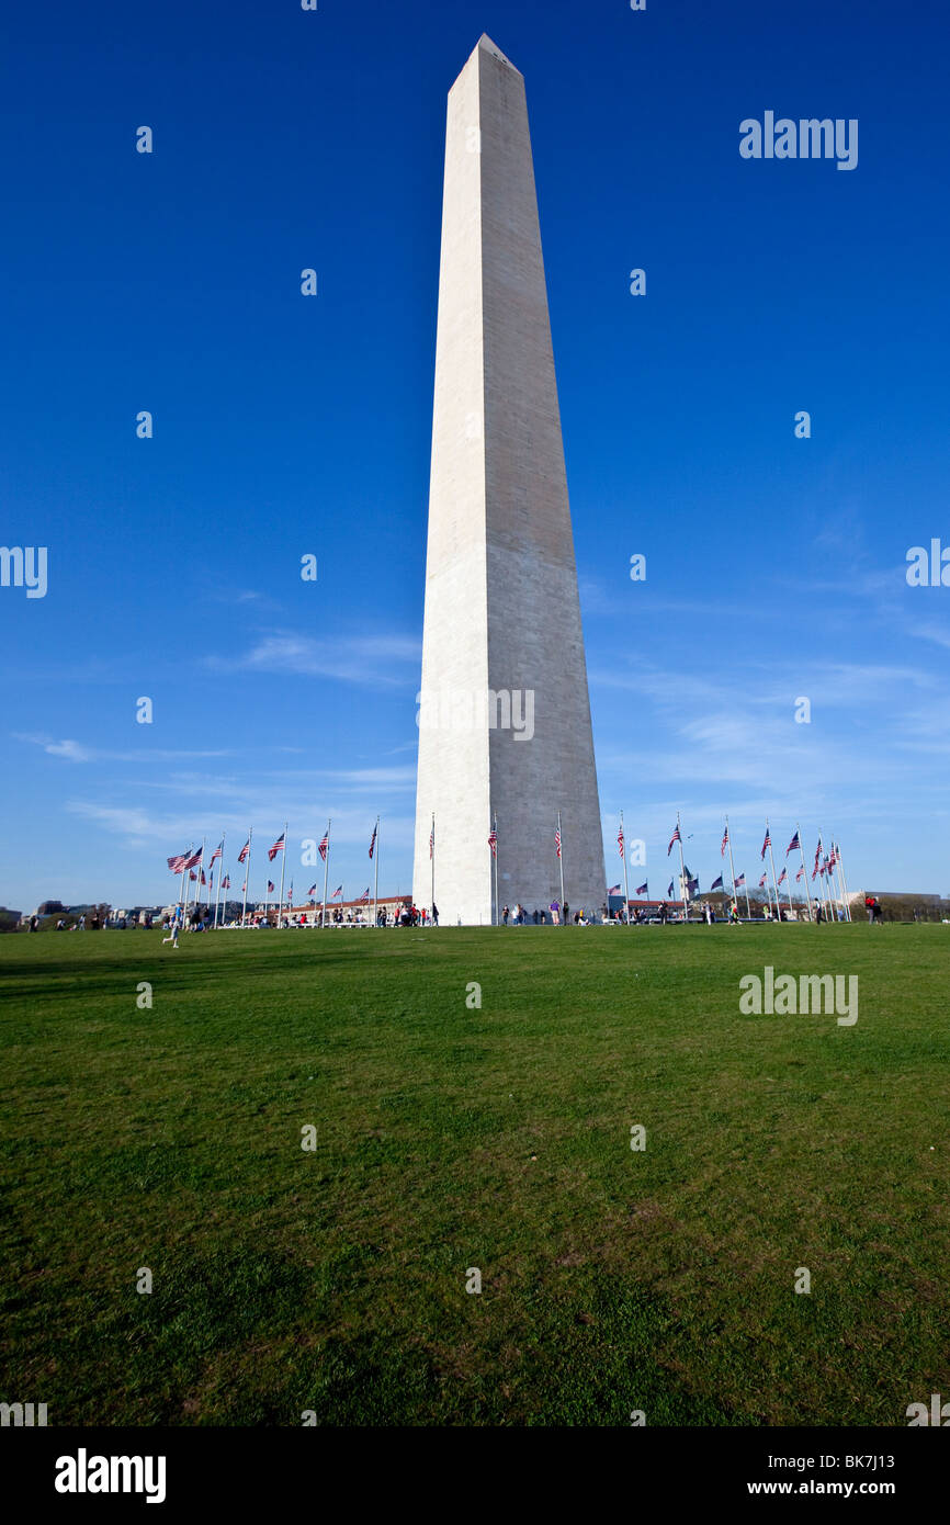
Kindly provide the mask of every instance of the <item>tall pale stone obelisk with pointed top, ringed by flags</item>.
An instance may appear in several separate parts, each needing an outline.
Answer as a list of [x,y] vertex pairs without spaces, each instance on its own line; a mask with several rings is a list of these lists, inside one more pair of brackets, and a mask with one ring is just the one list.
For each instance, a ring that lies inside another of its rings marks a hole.
[[435,878],[442,926],[496,920],[497,820],[502,904],[547,910],[563,871],[572,912],[599,913],[604,846],[525,81],[486,37],[448,95],[418,721],[416,904],[430,904]]

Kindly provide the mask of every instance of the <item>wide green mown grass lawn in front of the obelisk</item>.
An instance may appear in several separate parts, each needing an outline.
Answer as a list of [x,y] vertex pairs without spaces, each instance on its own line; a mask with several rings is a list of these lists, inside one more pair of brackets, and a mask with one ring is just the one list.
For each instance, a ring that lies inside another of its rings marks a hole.
[[[767,964],[859,1022],[741,1016]],[[913,926],[0,938],[0,1395],[906,1424],[950,1395],[948,973]]]

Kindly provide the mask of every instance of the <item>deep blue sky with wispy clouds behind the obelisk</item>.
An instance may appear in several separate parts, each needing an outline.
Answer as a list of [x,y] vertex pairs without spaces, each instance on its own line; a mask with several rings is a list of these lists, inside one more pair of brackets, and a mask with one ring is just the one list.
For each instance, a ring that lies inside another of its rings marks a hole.
[[[410,888],[445,95],[482,32],[528,85],[608,881],[624,808],[656,892],[677,810],[703,888],[727,811],[750,880],[769,814],[852,888],[950,891],[950,589],[904,575],[950,546],[941,8],[53,0],[6,32],[0,538],[49,590],[0,589],[0,903],[163,901],[221,830],[235,883],[285,819],[307,889],[328,816],[357,895],[377,813]],[[859,166],[741,159],[765,110],[855,117]]]

